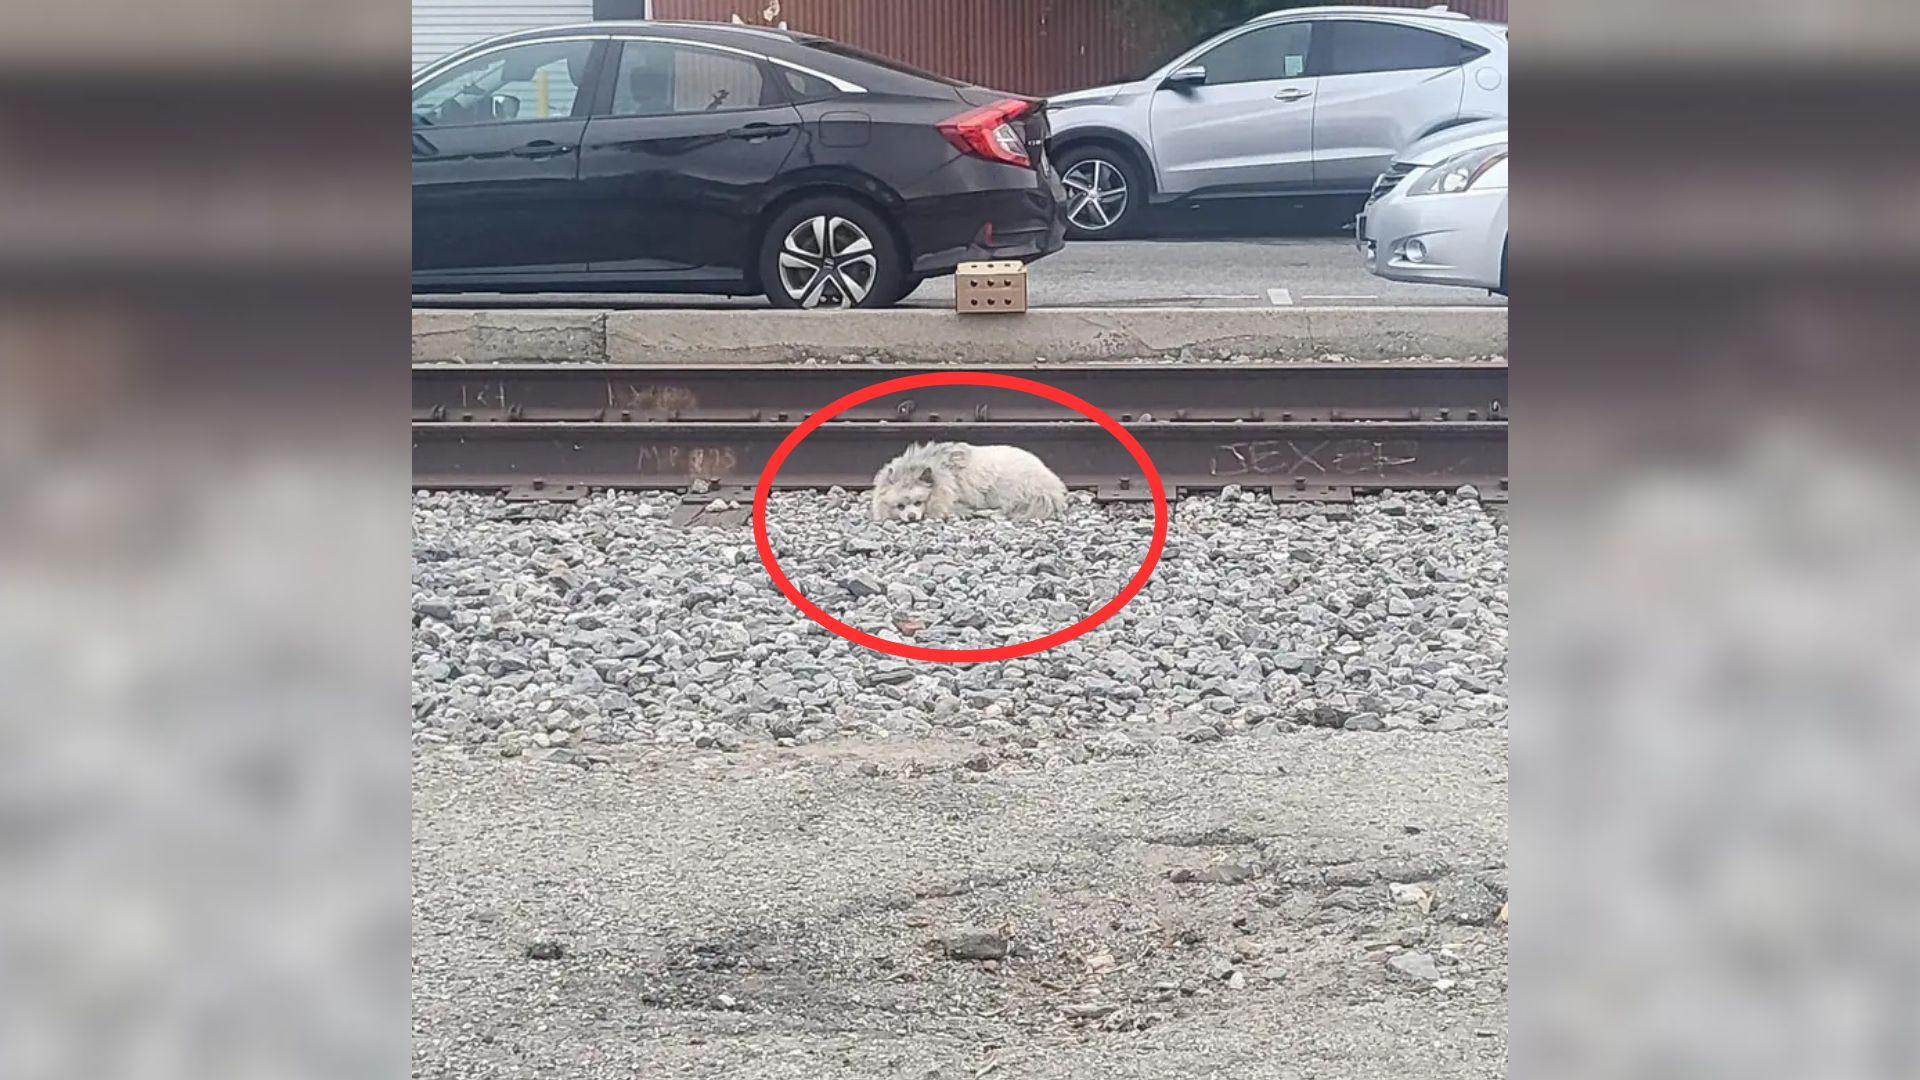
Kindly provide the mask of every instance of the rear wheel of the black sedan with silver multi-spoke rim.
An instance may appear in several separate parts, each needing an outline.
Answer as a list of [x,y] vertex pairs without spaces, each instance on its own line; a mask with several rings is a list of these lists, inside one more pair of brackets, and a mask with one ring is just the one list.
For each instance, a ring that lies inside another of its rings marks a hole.
[[887,307],[906,267],[893,227],[841,196],[801,200],[760,238],[760,284],[774,307]]

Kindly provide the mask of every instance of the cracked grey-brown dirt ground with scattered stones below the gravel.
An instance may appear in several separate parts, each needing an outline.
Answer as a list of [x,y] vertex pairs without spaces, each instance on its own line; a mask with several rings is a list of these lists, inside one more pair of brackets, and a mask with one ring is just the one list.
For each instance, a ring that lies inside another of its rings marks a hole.
[[1505,1076],[1505,732],[983,765],[422,751],[413,1074]]

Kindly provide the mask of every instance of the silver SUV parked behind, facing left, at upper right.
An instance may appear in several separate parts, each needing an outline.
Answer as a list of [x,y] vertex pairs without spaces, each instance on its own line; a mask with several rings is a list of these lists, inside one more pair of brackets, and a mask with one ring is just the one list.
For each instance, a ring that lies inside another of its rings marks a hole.
[[1292,8],[1152,75],[1048,98],[1068,236],[1150,204],[1354,196],[1434,131],[1507,115],[1507,27],[1446,8]]

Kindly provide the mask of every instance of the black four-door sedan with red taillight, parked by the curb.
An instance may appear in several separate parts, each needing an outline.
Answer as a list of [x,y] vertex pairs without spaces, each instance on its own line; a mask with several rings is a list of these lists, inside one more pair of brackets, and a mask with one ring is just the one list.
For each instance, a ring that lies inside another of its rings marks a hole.
[[887,306],[1060,250],[1046,135],[1043,102],[808,35],[505,35],[413,79],[413,288]]

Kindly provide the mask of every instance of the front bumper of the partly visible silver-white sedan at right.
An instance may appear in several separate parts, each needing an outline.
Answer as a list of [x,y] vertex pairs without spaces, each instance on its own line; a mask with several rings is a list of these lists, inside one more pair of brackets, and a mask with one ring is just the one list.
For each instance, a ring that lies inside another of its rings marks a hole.
[[1388,281],[1500,290],[1507,188],[1405,194],[1417,179],[1369,202],[1354,223],[1367,271]]

